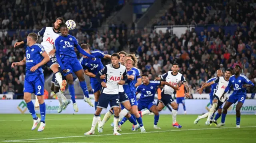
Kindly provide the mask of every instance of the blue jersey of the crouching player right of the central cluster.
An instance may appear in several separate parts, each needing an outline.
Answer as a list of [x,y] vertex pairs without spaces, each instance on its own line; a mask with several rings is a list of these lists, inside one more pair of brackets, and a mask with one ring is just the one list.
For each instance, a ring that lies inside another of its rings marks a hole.
[[150,81],[148,85],[141,84],[136,88],[136,92],[140,92],[140,100],[144,102],[154,101],[154,96],[157,86],[161,84],[160,81]]

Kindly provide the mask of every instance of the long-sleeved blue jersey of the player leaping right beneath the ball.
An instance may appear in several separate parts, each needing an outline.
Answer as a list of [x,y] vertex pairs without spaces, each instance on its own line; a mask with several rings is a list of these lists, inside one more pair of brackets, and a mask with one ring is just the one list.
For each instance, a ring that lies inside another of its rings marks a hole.
[[[95,58],[93,55],[90,55],[88,53],[86,53],[86,51],[84,51],[80,45],[78,45],[78,42],[76,40],[76,38],[72,35],[67,35],[62,36],[60,35],[56,40],[55,40],[55,47],[56,47],[56,59],[60,65],[60,68],[62,70],[66,69],[65,62],[68,63],[69,61],[71,61],[70,64],[74,64],[72,63],[72,61],[77,60],[76,59],[76,52],[75,52],[75,47],[77,49],[77,51],[79,51],[81,54],[89,57],[89,58]],[[63,65],[64,63],[64,65]]]

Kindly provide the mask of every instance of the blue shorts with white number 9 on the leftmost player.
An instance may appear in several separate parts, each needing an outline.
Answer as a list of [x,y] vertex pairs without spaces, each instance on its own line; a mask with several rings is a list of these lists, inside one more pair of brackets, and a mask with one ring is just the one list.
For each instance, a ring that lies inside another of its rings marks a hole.
[[44,74],[26,75],[24,81],[24,92],[44,95]]

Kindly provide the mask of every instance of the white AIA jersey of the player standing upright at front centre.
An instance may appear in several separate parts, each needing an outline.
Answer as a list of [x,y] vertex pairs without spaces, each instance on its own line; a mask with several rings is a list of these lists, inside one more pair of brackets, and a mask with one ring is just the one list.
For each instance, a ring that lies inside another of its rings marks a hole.
[[102,93],[105,94],[118,94],[118,82],[121,80],[122,75],[127,76],[126,67],[120,65],[118,69],[114,68],[112,64],[106,65],[100,70],[100,75],[106,74],[106,88],[102,88]]

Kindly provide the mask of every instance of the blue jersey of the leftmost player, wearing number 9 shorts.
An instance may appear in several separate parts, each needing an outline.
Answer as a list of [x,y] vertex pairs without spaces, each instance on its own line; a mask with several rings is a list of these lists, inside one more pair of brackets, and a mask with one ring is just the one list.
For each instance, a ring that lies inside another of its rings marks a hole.
[[36,71],[31,72],[30,69],[40,63],[43,59],[43,56],[41,55],[44,53],[44,47],[40,44],[34,44],[31,47],[26,47],[26,76],[27,75],[36,75],[36,74],[42,74],[44,70],[42,67],[38,67]]

